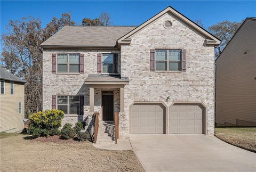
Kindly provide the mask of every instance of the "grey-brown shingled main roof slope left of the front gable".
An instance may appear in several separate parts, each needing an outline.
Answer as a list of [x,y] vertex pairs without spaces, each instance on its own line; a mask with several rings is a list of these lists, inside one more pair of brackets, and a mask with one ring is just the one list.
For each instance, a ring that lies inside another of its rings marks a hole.
[[65,26],[41,47],[115,47],[116,40],[136,26]]

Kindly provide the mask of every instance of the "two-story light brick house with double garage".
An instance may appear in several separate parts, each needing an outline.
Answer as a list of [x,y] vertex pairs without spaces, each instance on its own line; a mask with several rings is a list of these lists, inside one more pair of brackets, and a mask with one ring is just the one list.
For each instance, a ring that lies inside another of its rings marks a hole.
[[88,124],[100,112],[101,126],[119,112],[121,138],[212,135],[218,44],[172,7],[138,27],[66,26],[41,45],[43,110],[61,109],[63,122]]

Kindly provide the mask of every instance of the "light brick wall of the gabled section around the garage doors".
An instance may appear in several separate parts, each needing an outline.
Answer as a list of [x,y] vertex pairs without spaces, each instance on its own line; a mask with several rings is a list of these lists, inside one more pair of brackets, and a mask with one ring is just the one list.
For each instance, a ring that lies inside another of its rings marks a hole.
[[[171,29],[163,27],[166,20],[172,22]],[[133,102],[144,101],[163,102],[168,108],[173,102],[203,102],[207,107],[207,134],[213,134],[214,47],[205,46],[205,38],[170,14],[165,14],[131,38],[130,45],[121,46],[121,75],[130,79],[129,85],[125,86],[125,109],[123,119],[120,119],[123,126],[119,129],[121,137],[129,134],[130,106]],[[151,72],[150,49],[161,47],[186,49],[187,71]],[[166,102],[168,96],[170,101]]]

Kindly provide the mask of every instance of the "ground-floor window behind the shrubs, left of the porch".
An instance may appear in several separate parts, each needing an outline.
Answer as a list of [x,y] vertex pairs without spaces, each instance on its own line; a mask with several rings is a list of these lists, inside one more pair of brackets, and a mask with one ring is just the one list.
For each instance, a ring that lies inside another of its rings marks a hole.
[[57,98],[58,110],[62,110],[65,114],[79,114],[79,95],[58,95]]

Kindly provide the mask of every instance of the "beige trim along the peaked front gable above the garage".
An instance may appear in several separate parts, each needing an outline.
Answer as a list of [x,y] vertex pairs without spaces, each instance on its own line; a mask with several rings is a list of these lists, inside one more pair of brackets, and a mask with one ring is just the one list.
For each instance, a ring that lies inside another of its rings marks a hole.
[[[163,11],[159,12],[158,14],[156,14],[154,17],[150,18],[149,20],[147,20],[146,22],[140,24],[140,26],[138,26],[137,28],[134,28],[132,31],[128,32],[127,34],[125,34],[124,36],[122,36],[121,38],[119,38],[117,40],[118,43],[127,43],[129,42],[129,38],[134,35],[136,32],[138,32],[139,30],[141,30],[142,28],[148,26],[149,23],[155,21],[156,19],[158,19],[159,17],[161,17],[162,15],[164,15],[165,13],[170,12],[172,14],[174,14],[175,16],[177,16],[179,19],[181,19],[183,22],[186,22],[187,24],[189,24],[189,26],[193,27],[194,29],[196,29],[198,32],[200,32],[202,35],[205,36],[206,38],[206,43],[207,44],[212,44],[212,45],[219,45],[221,43],[221,40],[217,37],[215,37],[214,35],[212,35],[210,32],[208,32],[207,30],[205,30],[204,28],[198,26],[198,24],[196,24],[195,22],[191,21],[190,19],[188,19],[187,17],[185,17],[185,15],[179,13],[177,10],[173,9],[173,7],[168,6],[166,9],[164,9]],[[210,41],[209,41],[210,40]]]

